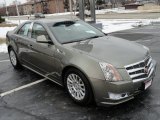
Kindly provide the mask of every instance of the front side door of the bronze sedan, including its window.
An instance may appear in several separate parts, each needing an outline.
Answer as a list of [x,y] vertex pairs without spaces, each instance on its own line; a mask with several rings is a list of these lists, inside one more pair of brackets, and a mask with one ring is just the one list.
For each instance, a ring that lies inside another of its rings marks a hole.
[[[48,41],[50,40],[49,34],[43,25],[34,23],[29,42],[30,52],[28,53],[30,65],[45,74],[47,77],[52,77],[57,81],[57,72],[55,66],[55,45],[49,43],[38,43],[36,39],[38,36],[44,35]],[[59,81],[58,81],[59,82]]]

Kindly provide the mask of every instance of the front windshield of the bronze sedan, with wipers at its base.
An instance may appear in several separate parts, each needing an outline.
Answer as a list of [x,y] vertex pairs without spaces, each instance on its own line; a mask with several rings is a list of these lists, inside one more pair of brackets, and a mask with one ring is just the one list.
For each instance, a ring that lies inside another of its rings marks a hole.
[[62,44],[104,36],[104,33],[83,21],[58,22],[50,29]]

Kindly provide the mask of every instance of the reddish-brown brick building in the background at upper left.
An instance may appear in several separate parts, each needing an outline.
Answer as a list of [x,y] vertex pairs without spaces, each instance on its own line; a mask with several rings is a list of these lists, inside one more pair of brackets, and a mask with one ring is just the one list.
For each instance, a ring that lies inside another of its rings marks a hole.
[[[33,0],[18,5],[20,15],[31,15],[34,13],[61,13],[64,12],[64,0]],[[16,5],[7,6],[8,15],[16,16]],[[6,7],[0,8],[0,15],[6,15]]]

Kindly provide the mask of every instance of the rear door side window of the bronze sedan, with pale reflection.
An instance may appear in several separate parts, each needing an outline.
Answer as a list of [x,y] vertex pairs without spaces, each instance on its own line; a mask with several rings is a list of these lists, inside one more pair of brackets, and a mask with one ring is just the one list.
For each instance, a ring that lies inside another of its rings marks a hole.
[[27,36],[28,35],[28,32],[29,32],[29,28],[31,26],[31,23],[26,23],[23,25],[23,27],[21,27],[18,31],[18,35],[21,35],[21,36]]

